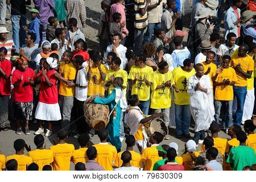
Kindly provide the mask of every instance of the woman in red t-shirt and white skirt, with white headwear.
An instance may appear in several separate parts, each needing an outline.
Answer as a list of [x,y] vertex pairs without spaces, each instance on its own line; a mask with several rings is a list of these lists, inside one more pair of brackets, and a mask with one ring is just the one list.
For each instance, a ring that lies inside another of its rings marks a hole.
[[35,135],[44,133],[42,121],[48,121],[46,137],[52,134],[52,121],[61,119],[60,106],[58,104],[57,77],[55,76],[58,60],[53,57],[42,58],[42,71],[36,76],[36,83],[40,82],[39,102],[35,111],[35,118],[39,119],[39,129]]

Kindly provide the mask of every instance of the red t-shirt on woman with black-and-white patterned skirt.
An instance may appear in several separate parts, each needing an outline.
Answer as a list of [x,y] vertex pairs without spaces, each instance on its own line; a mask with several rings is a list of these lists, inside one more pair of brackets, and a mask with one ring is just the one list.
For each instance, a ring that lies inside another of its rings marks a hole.
[[35,72],[31,68],[27,68],[26,71],[22,72],[16,69],[11,77],[11,84],[14,84],[23,76],[23,80],[20,82],[19,86],[13,88],[14,101],[16,102],[30,102],[33,101],[33,87],[29,85],[24,85],[28,82],[28,78],[35,80]]

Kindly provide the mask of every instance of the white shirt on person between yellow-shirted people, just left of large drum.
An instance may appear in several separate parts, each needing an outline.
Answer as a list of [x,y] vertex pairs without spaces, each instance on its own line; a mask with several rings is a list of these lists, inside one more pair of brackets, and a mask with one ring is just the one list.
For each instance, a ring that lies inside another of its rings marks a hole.
[[[86,68],[82,68],[77,72],[76,84],[80,86],[88,86],[88,80],[86,78]],[[82,88],[79,86],[75,87],[75,97],[79,101],[85,101],[87,98],[88,88]]]

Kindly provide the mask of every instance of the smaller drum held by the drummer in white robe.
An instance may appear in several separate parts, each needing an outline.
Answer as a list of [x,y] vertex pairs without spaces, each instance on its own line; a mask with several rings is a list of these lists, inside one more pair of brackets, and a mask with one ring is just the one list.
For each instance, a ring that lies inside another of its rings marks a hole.
[[155,119],[152,119],[150,122],[145,123],[144,129],[146,130],[148,137],[151,137],[151,135],[155,131],[162,133],[164,136],[168,134],[168,127],[166,126],[163,119],[161,118],[155,118]]

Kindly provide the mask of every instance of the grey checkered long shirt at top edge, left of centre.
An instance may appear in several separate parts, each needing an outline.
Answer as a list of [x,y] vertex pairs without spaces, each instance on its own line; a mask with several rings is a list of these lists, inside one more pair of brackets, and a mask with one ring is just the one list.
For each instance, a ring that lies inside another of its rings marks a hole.
[[76,18],[77,28],[82,28],[82,26],[85,26],[86,9],[84,0],[67,0],[65,3],[65,8],[67,10],[67,22],[70,18]]

